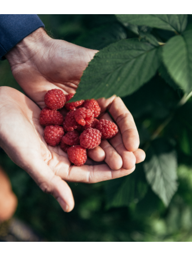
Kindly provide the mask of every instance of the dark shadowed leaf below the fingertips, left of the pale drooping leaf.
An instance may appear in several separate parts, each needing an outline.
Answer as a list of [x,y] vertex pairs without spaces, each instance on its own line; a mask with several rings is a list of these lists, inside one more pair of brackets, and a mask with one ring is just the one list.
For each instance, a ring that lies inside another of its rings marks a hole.
[[137,203],[147,192],[147,183],[142,164],[136,165],[136,170],[128,176],[107,181],[107,208],[129,206]]

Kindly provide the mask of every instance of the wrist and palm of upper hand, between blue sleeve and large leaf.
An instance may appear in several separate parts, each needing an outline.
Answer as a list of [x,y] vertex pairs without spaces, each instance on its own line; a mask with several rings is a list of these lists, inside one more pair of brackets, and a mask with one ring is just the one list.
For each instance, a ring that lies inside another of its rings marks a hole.
[[23,91],[43,108],[45,93],[50,89],[75,93],[83,71],[97,52],[51,39],[39,28],[10,50],[6,58]]

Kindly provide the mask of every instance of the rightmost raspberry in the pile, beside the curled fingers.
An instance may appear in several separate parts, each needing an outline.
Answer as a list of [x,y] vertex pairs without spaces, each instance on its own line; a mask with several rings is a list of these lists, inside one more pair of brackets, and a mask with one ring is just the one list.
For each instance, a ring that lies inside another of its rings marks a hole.
[[96,129],[101,131],[102,139],[111,139],[118,132],[118,128],[115,123],[101,119],[96,125]]

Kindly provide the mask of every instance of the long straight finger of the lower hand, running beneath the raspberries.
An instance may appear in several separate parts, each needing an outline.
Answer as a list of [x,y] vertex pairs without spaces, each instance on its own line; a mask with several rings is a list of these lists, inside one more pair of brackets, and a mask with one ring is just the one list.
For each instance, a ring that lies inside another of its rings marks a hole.
[[123,168],[119,170],[112,170],[107,164],[99,164],[94,166],[85,164],[81,167],[72,165],[67,174],[62,168],[60,168],[57,173],[65,181],[96,183],[126,176],[132,173],[135,168],[136,167],[134,166],[130,170],[125,170]]

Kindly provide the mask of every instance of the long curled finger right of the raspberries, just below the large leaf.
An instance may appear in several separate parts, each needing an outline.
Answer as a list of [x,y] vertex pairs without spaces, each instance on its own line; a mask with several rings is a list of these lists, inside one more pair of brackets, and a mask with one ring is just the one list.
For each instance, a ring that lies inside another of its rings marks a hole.
[[[112,100],[113,98],[111,97],[110,99]],[[103,99],[100,101],[98,100],[100,104],[102,104],[103,101]],[[126,150],[132,152],[136,151],[139,146],[139,135],[132,114],[126,108],[120,97],[115,97],[108,105],[107,109],[121,131]]]

